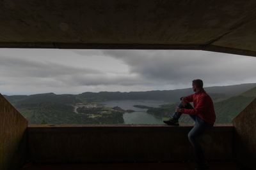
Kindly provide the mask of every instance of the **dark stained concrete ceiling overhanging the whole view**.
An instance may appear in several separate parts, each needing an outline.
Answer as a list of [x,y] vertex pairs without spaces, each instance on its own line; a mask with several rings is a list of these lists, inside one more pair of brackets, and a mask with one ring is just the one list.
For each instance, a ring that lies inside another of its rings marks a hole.
[[2,0],[0,47],[195,49],[256,56],[256,1]]

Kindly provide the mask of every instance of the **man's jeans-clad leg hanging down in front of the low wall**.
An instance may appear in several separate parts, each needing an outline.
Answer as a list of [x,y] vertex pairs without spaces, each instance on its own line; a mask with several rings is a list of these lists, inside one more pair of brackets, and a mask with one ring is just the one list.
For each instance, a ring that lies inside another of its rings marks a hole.
[[211,129],[212,125],[207,124],[198,116],[196,116],[195,120],[195,126],[191,129],[191,131],[189,131],[188,139],[195,150],[196,162],[198,162],[198,164],[204,164],[204,151],[198,141],[198,138],[203,134],[206,129]]

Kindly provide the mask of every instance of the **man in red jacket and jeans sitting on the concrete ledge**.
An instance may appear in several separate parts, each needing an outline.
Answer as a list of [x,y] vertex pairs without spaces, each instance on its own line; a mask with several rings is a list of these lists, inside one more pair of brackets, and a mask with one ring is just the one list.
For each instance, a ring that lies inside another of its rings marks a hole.
[[[195,150],[198,169],[207,169],[204,151],[198,142],[198,137],[206,129],[211,129],[216,120],[216,115],[212,99],[203,88],[203,81],[200,79],[193,80],[192,87],[195,94],[181,97],[181,102],[174,115],[169,120],[164,121],[164,123],[179,125],[179,118],[182,113],[188,114],[195,121],[194,127],[188,133],[188,139]],[[193,102],[194,107],[191,106],[191,102]]]

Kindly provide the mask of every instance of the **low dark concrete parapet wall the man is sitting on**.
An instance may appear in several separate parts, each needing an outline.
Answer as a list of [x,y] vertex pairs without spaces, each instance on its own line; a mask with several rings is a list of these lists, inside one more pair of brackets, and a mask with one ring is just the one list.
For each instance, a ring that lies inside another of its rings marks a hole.
[[[193,157],[191,126],[29,125],[34,162],[169,161]],[[232,159],[233,127],[216,126],[202,138],[208,159]]]

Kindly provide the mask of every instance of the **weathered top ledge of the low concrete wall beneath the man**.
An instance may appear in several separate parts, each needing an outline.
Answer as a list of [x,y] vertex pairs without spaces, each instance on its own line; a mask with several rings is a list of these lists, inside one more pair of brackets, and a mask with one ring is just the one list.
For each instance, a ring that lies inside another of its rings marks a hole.
[[[150,125],[150,124],[31,124],[28,126],[29,133],[42,133],[42,132],[72,132],[79,133],[81,131],[115,131],[115,132],[145,132],[145,131],[175,131],[175,132],[188,132],[193,127],[193,124],[181,124],[180,126],[169,125]],[[216,124],[212,132],[232,132],[234,127],[232,124]]]

